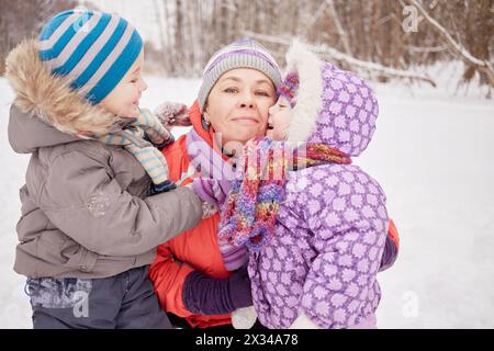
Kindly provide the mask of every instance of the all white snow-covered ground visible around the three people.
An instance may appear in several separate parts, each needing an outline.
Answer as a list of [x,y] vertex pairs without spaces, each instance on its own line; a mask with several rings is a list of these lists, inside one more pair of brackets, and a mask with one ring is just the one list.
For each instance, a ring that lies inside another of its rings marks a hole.
[[[199,87],[147,80],[143,105],[151,109],[166,100],[190,104]],[[494,104],[475,89],[452,95],[446,88],[390,84],[377,92],[378,131],[356,163],[385,190],[402,245],[395,265],[379,276],[379,327],[493,328]],[[24,278],[12,271],[18,190],[29,160],[7,139],[12,99],[0,78],[0,328],[30,328]]]

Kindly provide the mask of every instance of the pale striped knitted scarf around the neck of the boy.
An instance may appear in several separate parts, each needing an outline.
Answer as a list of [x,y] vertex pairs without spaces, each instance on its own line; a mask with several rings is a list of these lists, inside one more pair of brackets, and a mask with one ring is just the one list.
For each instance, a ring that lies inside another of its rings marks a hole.
[[[145,138],[150,140],[147,141]],[[108,145],[122,146],[141,162],[149,174],[153,183],[159,185],[160,191],[175,188],[168,180],[168,163],[162,154],[157,149],[173,141],[173,136],[159,120],[148,110],[141,110],[137,118],[132,120],[121,131],[109,133],[99,138]]]

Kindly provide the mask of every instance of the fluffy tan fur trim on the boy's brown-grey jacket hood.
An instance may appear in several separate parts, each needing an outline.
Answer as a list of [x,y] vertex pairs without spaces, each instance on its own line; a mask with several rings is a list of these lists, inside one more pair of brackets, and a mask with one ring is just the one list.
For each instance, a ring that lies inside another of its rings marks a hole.
[[19,44],[7,57],[7,79],[14,105],[63,133],[80,138],[113,131],[121,118],[89,103],[82,90],[70,88],[69,77],[52,75],[40,59],[37,39]]

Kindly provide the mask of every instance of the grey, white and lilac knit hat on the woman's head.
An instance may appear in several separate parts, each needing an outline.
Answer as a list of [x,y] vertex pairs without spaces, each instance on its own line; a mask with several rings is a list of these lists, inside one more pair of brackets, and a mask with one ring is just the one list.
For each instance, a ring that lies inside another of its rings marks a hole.
[[276,89],[281,83],[280,67],[266,47],[250,38],[236,41],[214,53],[205,66],[198,97],[201,111],[220,77],[235,68],[251,68],[265,73]]

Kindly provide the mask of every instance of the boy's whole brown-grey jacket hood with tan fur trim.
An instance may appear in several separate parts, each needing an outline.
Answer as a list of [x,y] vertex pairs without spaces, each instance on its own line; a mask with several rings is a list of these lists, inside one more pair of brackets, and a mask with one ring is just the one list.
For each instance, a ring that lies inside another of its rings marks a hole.
[[[56,77],[43,65],[36,39],[19,44],[7,57],[7,79],[15,92],[9,123],[14,150],[69,143],[114,131],[120,118],[85,100],[69,77]],[[42,123],[40,123],[42,122]]]

